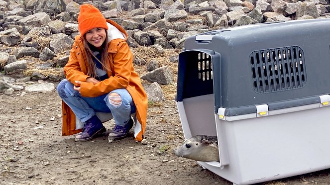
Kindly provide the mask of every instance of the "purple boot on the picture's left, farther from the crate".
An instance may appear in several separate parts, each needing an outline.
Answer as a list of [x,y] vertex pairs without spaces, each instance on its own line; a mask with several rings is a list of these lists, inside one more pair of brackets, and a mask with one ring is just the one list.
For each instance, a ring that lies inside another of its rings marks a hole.
[[93,139],[94,137],[102,134],[107,129],[103,126],[98,116],[94,115],[91,119],[87,120],[83,131],[76,136],[76,142],[84,142]]

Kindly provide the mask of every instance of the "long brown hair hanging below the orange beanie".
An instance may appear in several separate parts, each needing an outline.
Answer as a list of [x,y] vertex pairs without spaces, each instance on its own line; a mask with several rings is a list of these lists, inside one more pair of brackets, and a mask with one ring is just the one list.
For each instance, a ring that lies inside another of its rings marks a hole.
[[101,50],[101,61],[99,61],[99,59],[93,55],[93,52],[91,50],[91,46],[87,39],[86,39],[86,34],[84,35],[84,39],[83,39],[83,43],[84,43],[84,49],[86,51],[86,59],[87,59],[87,75],[90,77],[97,77],[96,74],[96,65],[93,59],[98,60],[101,64],[102,64],[102,69],[106,70],[106,71],[110,71],[111,72],[111,67],[112,67],[112,63],[110,61],[109,55],[108,55],[108,42],[109,42],[109,38],[108,38],[108,31],[106,31],[106,39],[102,44],[102,50]]

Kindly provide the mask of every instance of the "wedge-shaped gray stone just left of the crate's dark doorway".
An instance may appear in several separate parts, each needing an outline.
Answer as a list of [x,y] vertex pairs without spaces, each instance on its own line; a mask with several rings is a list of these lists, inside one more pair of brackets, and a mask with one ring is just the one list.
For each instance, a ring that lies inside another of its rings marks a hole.
[[173,75],[168,66],[163,66],[151,72],[147,72],[146,74],[141,76],[141,79],[151,83],[157,82],[160,85],[169,85],[172,84]]

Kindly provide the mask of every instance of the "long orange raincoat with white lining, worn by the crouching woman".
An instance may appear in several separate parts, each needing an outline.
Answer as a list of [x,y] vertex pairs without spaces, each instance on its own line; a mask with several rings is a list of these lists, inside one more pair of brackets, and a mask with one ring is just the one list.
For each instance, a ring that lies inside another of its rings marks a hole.
[[[83,36],[77,35],[75,37],[75,43],[70,51],[69,62],[64,67],[64,74],[69,82],[77,85],[75,81],[81,81],[81,95],[86,97],[95,97],[102,94],[106,94],[115,89],[126,89],[133,98],[136,106],[136,118],[134,129],[135,139],[141,141],[143,139],[146,119],[147,119],[147,95],[141,85],[140,78],[133,67],[133,54],[130,51],[128,44],[126,43],[127,33],[117,23],[107,20],[117,32],[118,30],[122,34],[122,38],[112,38],[109,42],[108,54],[110,61],[113,63],[112,72],[108,71],[109,79],[101,81],[94,85],[93,83],[87,83],[87,67],[86,67],[86,51],[83,46]],[[110,26],[110,25],[109,25]],[[111,31],[108,31],[108,33]],[[119,33],[119,32],[118,32]],[[110,35],[111,37],[111,35]],[[72,135],[82,131],[82,129],[76,129],[76,116],[72,112],[71,108],[62,101],[63,112],[63,128],[62,135]]]

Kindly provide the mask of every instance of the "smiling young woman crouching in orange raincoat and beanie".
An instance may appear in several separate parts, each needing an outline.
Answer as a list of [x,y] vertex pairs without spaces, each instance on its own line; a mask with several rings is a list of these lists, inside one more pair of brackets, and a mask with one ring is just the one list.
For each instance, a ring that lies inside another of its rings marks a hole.
[[[63,100],[62,134],[82,131],[75,141],[91,140],[106,131],[95,112],[111,112],[115,126],[109,139],[121,139],[133,126],[131,113],[136,113],[134,136],[141,141],[148,100],[134,72],[126,31],[90,4],[80,6],[78,27],[80,35],[64,67],[66,79],[57,87]],[[76,117],[85,122],[83,129],[76,128]]]

